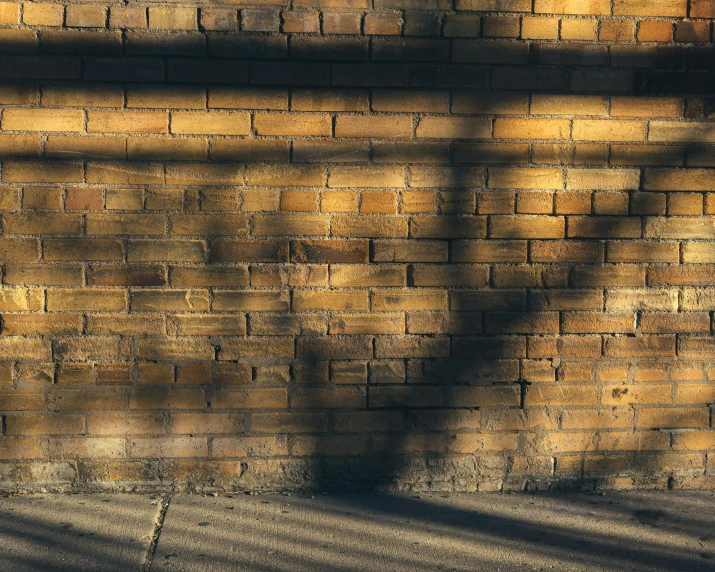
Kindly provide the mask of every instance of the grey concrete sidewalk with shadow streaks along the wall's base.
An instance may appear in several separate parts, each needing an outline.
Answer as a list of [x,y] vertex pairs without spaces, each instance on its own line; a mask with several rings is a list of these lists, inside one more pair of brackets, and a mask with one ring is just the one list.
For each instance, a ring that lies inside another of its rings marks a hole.
[[715,570],[715,494],[19,496],[0,570]]

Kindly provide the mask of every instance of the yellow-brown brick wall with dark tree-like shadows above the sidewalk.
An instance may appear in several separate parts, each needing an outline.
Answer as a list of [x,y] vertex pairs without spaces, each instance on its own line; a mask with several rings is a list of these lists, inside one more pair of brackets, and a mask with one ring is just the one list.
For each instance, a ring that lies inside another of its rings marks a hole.
[[0,488],[713,486],[713,16],[0,2]]

